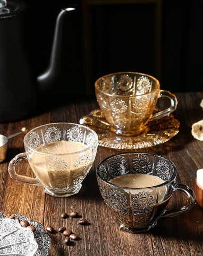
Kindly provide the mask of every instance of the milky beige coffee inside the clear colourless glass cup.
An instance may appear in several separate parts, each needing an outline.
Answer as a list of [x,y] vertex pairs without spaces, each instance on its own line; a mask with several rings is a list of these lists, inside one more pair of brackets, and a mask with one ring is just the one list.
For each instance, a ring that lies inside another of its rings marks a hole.
[[[29,163],[37,179],[47,187],[66,188],[77,185],[92,165],[87,146],[74,141],[57,141],[36,148]],[[71,154],[72,153],[72,154]],[[75,153],[75,154],[74,154]]]

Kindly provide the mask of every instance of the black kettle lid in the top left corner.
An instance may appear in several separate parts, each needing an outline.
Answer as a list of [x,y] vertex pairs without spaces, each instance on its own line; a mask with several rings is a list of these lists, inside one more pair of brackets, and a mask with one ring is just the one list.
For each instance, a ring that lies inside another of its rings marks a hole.
[[0,19],[13,17],[27,9],[21,0],[0,0]]

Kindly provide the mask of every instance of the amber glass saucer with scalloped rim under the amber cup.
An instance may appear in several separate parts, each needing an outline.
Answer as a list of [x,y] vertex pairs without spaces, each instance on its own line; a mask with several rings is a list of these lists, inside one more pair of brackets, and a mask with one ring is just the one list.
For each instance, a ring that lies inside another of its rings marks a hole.
[[[155,113],[160,111],[155,109]],[[115,149],[140,149],[159,145],[173,138],[179,132],[180,122],[171,114],[156,121],[149,121],[145,130],[132,137],[123,137],[111,131],[100,109],[92,110],[80,118],[80,124],[94,130],[99,137],[99,146]]]

